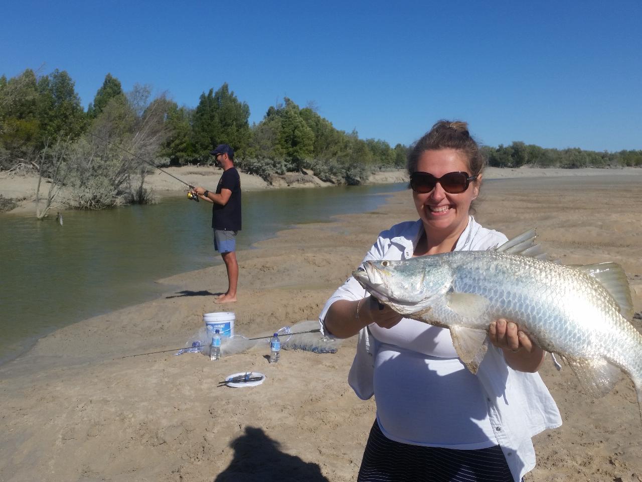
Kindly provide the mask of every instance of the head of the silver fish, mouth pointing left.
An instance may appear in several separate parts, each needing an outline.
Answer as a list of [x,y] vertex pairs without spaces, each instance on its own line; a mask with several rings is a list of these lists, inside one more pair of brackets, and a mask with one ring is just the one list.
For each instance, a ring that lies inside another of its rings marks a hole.
[[453,272],[439,256],[365,261],[352,276],[381,303],[401,314],[425,308],[453,281]]

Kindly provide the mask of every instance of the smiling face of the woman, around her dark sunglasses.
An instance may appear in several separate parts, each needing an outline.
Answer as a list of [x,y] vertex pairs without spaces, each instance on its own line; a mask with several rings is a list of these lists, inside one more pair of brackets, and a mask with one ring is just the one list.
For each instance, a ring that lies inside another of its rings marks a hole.
[[[467,172],[471,175],[465,155],[455,149],[426,150],[417,161],[417,171],[429,172],[435,177],[453,171]],[[444,191],[440,183],[428,193],[412,192],[415,208],[424,223],[426,233],[439,232],[441,235],[460,235],[468,224],[468,211],[471,202],[479,194],[479,181],[471,181],[462,193],[451,194]]]

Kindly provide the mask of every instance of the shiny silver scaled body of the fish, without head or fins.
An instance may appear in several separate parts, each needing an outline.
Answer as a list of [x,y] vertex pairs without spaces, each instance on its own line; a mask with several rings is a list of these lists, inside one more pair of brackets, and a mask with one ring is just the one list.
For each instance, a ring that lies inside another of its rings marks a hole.
[[506,317],[533,335],[546,351],[591,358],[604,350],[616,358],[619,350],[609,338],[637,333],[621,317],[611,294],[572,267],[492,251],[436,256],[443,256],[453,268],[456,292],[480,294],[489,300],[487,311],[469,320],[446,303],[440,304],[440,314],[452,322],[465,321],[471,328],[485,329],[490,321]]

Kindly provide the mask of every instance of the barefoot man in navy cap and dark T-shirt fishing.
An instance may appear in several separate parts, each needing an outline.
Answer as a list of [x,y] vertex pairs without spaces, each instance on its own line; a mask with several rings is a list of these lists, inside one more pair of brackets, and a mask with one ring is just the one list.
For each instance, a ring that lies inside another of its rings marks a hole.
[[241,231],[241,178],[234,167],[234,149],[227,144],[219,144],[210,152],[214,160],[223,168],[216,192],[196,186],[193,193],[200,199],[214,204],[212,209],[212,229],[214,249],[221,253],[227,269],[228,287],[224,294],[216,298],[216,303],[236,301],[236,286],[239,265],[236,262],[236,233]]

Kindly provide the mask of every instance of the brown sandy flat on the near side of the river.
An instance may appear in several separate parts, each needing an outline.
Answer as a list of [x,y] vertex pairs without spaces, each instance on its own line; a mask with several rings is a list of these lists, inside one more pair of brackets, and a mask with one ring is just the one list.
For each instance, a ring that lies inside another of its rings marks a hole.
[[[487,183],[476,218],[509,237],[538,228],[564,263],[621,263],[641,312],[642,170],[532,171]],[[415,217],[410,193],[399,192],[377,212],[282,231],[238,253],[239,301],[223,309],[247,336],[315,319],[379,230]],[[222,308],[210,294],[226,286],[223,266],[161,282],[165,296],[67,326],[0,367],[0,481],[354,480],[374,420],[374,402],[346,382],[355,340],[336,354],[284,352],[277,365],[267,345],[219,362],[122,358],[181,346],[204,312]],[[265,373],[265,383],[216,387],[245,370]],[[547,361],[542,377],[564,425],[535,438],[538,465],[526,480],[641,481],[629,380],[595,399],[568,368]]]

